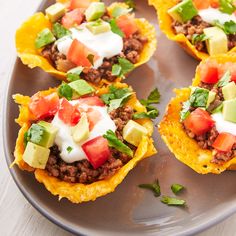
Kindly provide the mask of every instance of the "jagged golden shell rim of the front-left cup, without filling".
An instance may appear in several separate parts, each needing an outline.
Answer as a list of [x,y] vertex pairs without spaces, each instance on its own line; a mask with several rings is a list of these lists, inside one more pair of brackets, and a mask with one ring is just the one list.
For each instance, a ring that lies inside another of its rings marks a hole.
[[[116,87],[127,87],[128,85],[122,83],[114,84]],[[55,92],[56,89],[49,89],[42,91],[42,94],[50,94]],[[101,88],[97,91],[98,95],[106,93],[107,88]],[[153,145],[151,135],[153,133],[153,124],[149,119],[139,120],[139,123],[148,129],[148,136],[144,136],[139,144],[133,159],[131,159],[126,165],[118,170],[112,177],[106,180],[94,182],[92,184],[80,184],[80,183],[67,183],[55,177],[49,176],[47,171],[41,169],[34,169],[28,166],[22,159],[24,153],[24,133],[29,129],[30,125],[35,119],[32,113],[28,109],[30,97],[16,94],[13,96],[15,102],[19,104],[20,114],[16,119],[16,122],[21,126],[16,141],[16,147],[14,151],[15,161],[13,164],[17,164],[22,170],[34,171],[36,179],[45,185],[48,191],[53,195],[58,195],[59,199],[67,198],[73,203],[80,203],[85,201],[94,201],[96,198],[104,196],[110,192],[113,192],[115,188],[122,182],[128,172],[133,169],[136,164],[142,159],[152,156],[156,153],[156,149]],[[135,110],[141,112],[145,111],[136,96],[128,102],[128,105],[132,106]]]

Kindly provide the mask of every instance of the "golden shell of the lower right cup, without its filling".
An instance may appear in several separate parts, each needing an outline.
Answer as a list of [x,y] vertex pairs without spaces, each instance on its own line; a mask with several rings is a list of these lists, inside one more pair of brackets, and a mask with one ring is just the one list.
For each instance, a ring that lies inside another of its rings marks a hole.
[[[218,63],[236,63],[236,54],[211,57],[208,60],[216,60]],[[202,63],[205,63],[205,61]],[[200,82],[198,68],[193,86],[197,86]],[[199,174],[220,174],[226,169],[236,170],[236,157],[223,165],[214,164],[211,162],[213,158],[212,151],[201,149],[197,142],[186,134],[180,123],[180,111],[182,103],[189,99],[190,88],[176,89],[175,93],[176,97],[170,101],[166,114],[159,124],[159,132],[170,151],[179,161]]]

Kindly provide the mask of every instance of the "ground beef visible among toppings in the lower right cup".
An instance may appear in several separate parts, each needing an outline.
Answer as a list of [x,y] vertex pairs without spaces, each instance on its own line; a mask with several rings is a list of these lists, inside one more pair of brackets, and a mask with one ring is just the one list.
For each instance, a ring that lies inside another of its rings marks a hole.
[[[209,107],[207,109],[209,112],[213,111],[215,108],[217,108],[224,101],[224,97],[223,97],[223,93],[222,93],[222,88],[214,88],[214,85],[207,84],[207,83],[204,83],[204,82],[201,82],[199,84],[199,87],[216,92],[215,100],[209,105]],[[195,109],[196,109],[195,107],[191,107],[190,111],[194,111]],[[217,136],[219,135],[219,133],[216,130],[215,126],[213,126],[210,131],[206,132],[203,135],[195,135],[193,132],[188,130],[184,126],[184,124],[183,124],[183,127],[185,129],[186,134],[190,138],[195,139],[197,144],[199,145],[199,147],[201,147],[202,149],[213,150],[212,144],[214,143],[214,141],[216,140]],[[234,156],[236,156],[236,144],[233,146],[232,150],[230,152],[227,152],[227,153],[225,153],[225,152],[218,152],[218,151],[214,150],[213,151],[212,163],[216,163],[216,164],[222,165],[225,162],[227,162],[230,159],[232,159]]]

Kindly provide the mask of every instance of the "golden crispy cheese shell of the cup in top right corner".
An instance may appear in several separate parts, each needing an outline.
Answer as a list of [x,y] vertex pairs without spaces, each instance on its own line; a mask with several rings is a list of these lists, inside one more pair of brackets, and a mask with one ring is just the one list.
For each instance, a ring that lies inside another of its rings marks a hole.
[[[187,39],[184,34],[175,34],[171,24],[172,18],[167,13],[168,9],[177,5],[179,0],[149,0],[149,4],[153,5],[157,11],[159,26],[162,32],[172,41],[177,42],[187,53],[198,60],[204,60],[209,57],[208,53],[198,51],[195,46]],[[236,47],[228,53],[236,52]]]

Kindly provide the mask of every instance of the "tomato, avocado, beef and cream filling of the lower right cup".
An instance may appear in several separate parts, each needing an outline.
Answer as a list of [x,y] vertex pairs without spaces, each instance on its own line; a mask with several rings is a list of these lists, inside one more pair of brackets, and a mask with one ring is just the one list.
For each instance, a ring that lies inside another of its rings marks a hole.
[[191,87],[180,113],[186,134],[212,151],[212,163],[236,156],[236,63],[207,61],[199,67],[200,84]]

